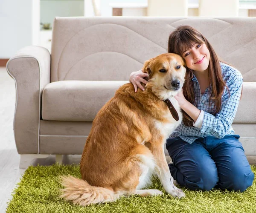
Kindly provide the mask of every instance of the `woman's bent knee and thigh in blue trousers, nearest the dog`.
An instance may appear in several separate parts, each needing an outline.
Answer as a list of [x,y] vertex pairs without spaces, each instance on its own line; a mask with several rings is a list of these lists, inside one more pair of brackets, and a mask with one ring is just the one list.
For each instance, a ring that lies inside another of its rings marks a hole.
[[[176,139],[176,138],[175,138]],[[182,141],[175,141],[169,146],[169,153],[173,152],[171,148],[177,145],[172,157],[171,174],[178,183],[192,190],[211,190],[218,182],[218,172],[215,162],[212,160],[208,151],[200,144],[182,144]]]

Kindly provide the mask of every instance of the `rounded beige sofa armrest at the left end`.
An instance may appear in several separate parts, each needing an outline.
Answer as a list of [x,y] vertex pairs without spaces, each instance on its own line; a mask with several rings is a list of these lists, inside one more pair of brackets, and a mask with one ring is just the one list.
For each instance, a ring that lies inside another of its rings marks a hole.
[[19,154],[39,153],[41,95],[50,82],[50,53],[40,46],[26,46],[6,64],[16,86],[14,136]]

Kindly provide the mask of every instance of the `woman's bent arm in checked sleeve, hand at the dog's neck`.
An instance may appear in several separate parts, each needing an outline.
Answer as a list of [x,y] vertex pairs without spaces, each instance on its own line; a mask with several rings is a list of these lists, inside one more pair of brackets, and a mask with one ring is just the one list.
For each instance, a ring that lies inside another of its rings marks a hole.
[[241,96],[242,83],[243,78],[238,71],[227,80],[226,84],[230,94],[227,91],[225,92],[222,97],[221,110],[216,115],[199,110],[186,101],[183,93],[179,93],[175,98],[179,102],[180,108],[194,120],[193,125],[200,128],[202,133],[216,138],[223,138],[235,118]]

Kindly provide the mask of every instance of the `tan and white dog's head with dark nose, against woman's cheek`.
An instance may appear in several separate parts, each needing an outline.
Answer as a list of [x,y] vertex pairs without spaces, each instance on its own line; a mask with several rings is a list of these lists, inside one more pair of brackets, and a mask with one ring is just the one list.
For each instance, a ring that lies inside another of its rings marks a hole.
[[180,91],[185,81],[185,62],[174,53],[164,53],[144,63],[143,72],[148,73],[147,87],[154,94],[165,100]]

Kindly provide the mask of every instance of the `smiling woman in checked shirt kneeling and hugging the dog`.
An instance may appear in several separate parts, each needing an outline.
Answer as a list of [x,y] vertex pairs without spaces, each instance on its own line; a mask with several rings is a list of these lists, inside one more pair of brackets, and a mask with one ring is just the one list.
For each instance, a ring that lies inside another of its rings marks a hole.
[[[241,96],[241,73],[218,59],[209,41],[198,30],[180,26],[169,36],[168,52],[186,61],[183,91],[175,96],[183,121],[166,141],[172,158],[172,177],[192,190],[243,192],[254,174],[231,124]],[[147,83],[147,74],[132,72],[135,92]]]

